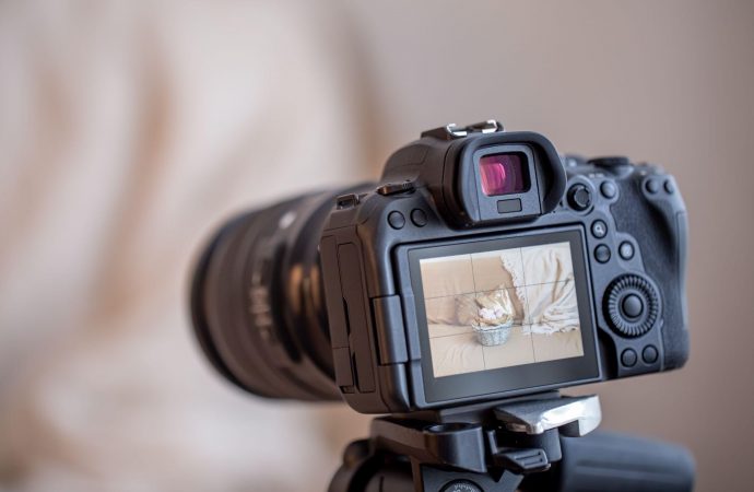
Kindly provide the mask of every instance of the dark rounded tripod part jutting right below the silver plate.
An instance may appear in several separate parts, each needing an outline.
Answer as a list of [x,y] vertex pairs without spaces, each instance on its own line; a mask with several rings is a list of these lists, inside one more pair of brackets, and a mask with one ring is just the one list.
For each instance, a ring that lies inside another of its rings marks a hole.
[[606,432],[561,437],[561,446],[563,460],[527,478],[521,490],[687,492],[694,487],[694,458],[681,446]]

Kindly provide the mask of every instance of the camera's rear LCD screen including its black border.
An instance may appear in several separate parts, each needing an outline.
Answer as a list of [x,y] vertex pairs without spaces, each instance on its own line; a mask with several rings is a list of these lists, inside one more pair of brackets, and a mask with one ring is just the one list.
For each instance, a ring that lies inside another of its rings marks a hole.
[[575,230],[413,249],[427,397],[598,376],[584,256]]

